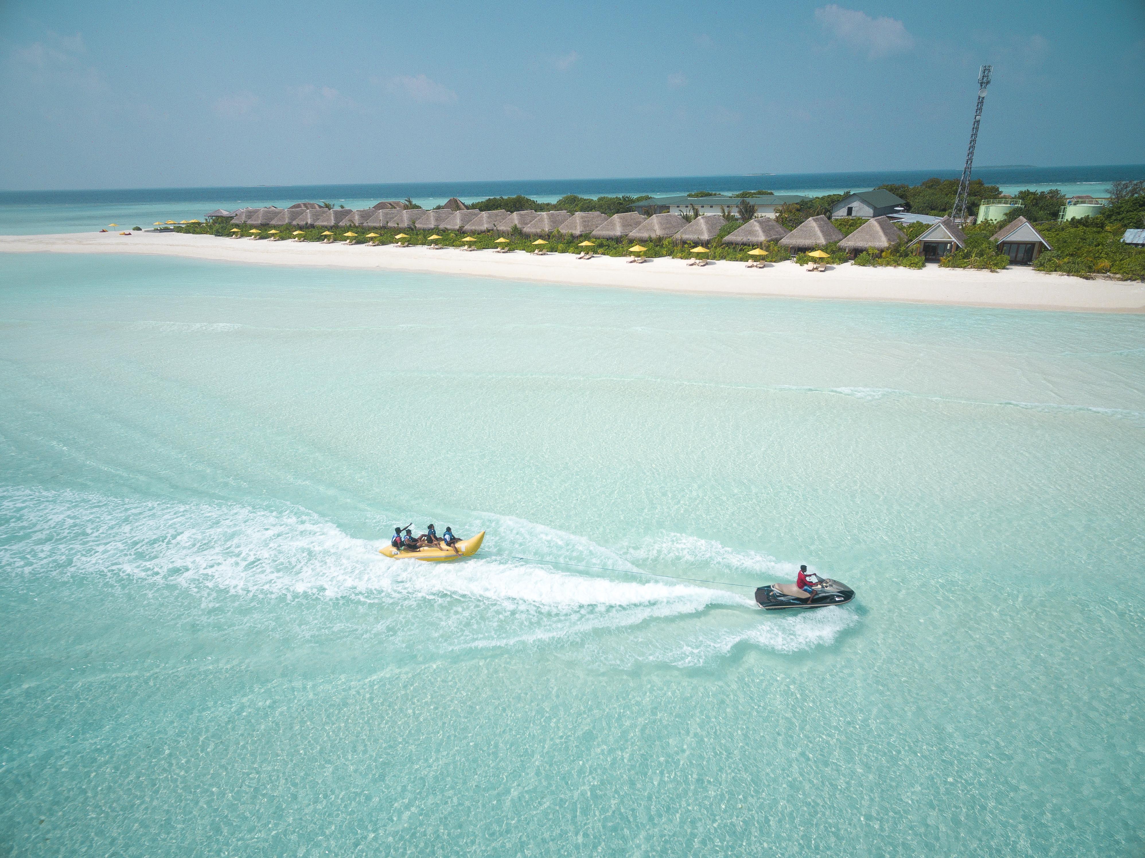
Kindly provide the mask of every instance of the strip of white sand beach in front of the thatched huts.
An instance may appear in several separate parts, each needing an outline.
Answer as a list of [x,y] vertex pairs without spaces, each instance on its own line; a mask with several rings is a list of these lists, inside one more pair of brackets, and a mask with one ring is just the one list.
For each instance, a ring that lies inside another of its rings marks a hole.
[[498,277],[535,283],[619,286],[706,294],[816,298],[828,300],[907,301],[973,307],[1145,312],[1145,284],[1085,281],[1012,268],[993,274],[942,269],[859,268],[851,265],[826,274],[805,271],[793,262],[745,268],[742,262],[711,262],[698,268],[679,259],[630,265],[624,259],[579,260],[567,253],[466,253],[456,249],[369,247],[342,244],[230,239],[179,233],[71,233],[0,236],[7,253],[140,253],[253,265],[311,266],[364,270]]

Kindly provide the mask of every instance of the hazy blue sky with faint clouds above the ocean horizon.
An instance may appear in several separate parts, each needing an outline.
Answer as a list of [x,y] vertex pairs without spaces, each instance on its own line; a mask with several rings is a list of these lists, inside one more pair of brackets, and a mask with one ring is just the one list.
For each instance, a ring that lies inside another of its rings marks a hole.
[[0,189],[1145,163],[1145,2],[0,0]]

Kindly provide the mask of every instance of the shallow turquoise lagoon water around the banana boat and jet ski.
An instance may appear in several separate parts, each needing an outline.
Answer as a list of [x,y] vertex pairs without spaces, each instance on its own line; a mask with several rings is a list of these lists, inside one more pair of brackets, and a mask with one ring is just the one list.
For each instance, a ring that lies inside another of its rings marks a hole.
[[1140,316],[5,255],[0,325],[5,855],[1145,848]]

